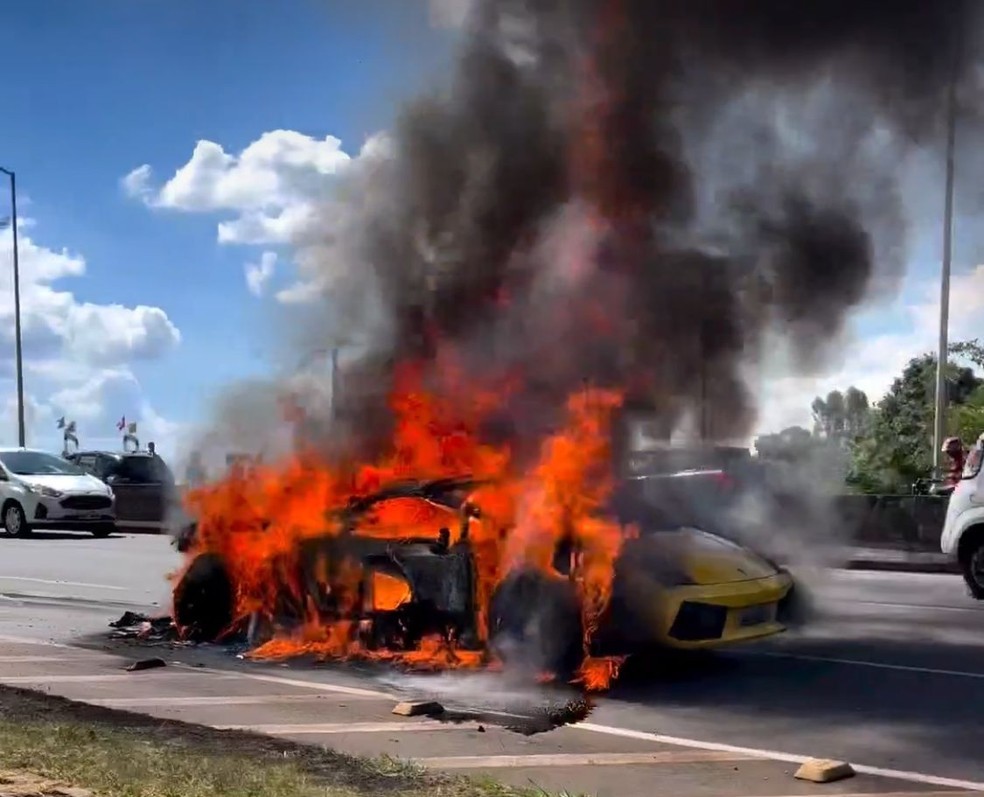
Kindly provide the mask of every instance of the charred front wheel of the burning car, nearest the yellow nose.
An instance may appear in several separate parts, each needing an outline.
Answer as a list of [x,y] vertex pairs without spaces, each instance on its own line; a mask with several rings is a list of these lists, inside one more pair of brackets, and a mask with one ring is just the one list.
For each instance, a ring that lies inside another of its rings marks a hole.
[[520,571],[507,576],[492,595],[490,646],[506,664],[573,675],[584,655],[582,628],[569,581]]

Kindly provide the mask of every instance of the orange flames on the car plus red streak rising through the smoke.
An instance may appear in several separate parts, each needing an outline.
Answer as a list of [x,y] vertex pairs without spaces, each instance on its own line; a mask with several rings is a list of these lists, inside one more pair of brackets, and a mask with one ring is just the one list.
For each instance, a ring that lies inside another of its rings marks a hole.
[[[629,244],[623,254],[631,258],[643,211],[620,183],[624,170],[617,162],[612,168],[612,159],[619,157],[617,146],[612,154],[612,134],[618,133],[620,97],[611,91],[611,76],[599,68],[611,60],[604,55],[618,46],[625,16],[618,2],[609,3],[608,11],[598,26],[600,57],[586,64],[569,168],[573,190],[587,205],[590,245],[615,231]],[[617,339],[631,324],[631,319],[611,310],[624,304],[624,285],[596,279],[594,253],[584,244],[572,243],[570,248],[576,251],[565,256],[562,265],[572,279],[592,280],[591,289],[569,311],[571,318],[590,325],[598,336]],[[503,287],[494,303],[508,301],[509,290]],[[276,619],[286,599],[295,611],[300,607],[299,626],[278,629],[272,641],[253,651],[256,657],[360,657],[418,668],[498,666],[486,652],[496,588],[517,568],[569,578],[584,631],[577,681],[589,690],[604,689],[617,676],[622,659],[593,657],[592,642],[611,597],[623,541],[637,533],[605,512],[614,487],[609,427],[623,391],[585,387],[574,392],[564,421],[540,441],[530,464],[510,446],[490,443],[482,432],[521,382],[515,375],[490,377],[491,368],[475,378],[453,348],[436,338],[432,342],[431,362],[405,362],[395,373],[390,404],[396,423],[387,456],[372,463],[339,463],[307,451],[275,465],[257,464],[249,473],[232,473],[219,484],[194,491],[188,503],[198,518],[199,533],[191,555],[215,553],[226,562],[238,620],[256,612]],[[303,415],[294,402],[286,407],[294,421]],[[461,475],[488,480],[469,498],[480,515],[462,520],[425,501],[394,499],[362,518],[357,533],[394,542],[436,540],[446,533],[452,544],[467,533],[475,564],[479,649],[466,650],[461,640],[441,635],[426,637],[409,651],[369,649],[361,637],[366,619],[360,604],[367,578],[374,609],[395,609],[412,600],[409,585],[395,576],[367,573],[361,562],[353,561],[321,562],[316,583],[302,583],[297,573],[303,543],[340,534],[343,520],[338,511],[354,497],[397,480]],[[556,552],[568,543],[570,562],[560,572]],[[340,607],[337,618],[319,613],[314,590],[333,593]]]

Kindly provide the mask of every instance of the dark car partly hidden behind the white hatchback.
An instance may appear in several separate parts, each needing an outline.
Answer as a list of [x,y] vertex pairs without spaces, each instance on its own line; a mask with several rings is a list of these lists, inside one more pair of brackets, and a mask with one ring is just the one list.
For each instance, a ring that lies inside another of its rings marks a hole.
[[159,455],[147,451],[76,451],[66,459],[113,488],[118,528],[164,530],[177,490],[174,474]]

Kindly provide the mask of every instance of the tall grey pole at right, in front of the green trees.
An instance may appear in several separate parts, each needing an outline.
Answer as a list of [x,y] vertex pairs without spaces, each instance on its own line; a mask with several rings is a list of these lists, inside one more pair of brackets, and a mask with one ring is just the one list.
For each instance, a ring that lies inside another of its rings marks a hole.
[[943,438],[946,434],[948,404],[946,368],[949,363],[950,261],[953,249],[954,150],[957,137],[957,69],[959,51],[953,55],[953,74],[947,92],[946,121],[946,199],[943,207],[943,268],[940,275],[940,340],[936,358],[936,417],[933,430],[933,474],[940,476]]

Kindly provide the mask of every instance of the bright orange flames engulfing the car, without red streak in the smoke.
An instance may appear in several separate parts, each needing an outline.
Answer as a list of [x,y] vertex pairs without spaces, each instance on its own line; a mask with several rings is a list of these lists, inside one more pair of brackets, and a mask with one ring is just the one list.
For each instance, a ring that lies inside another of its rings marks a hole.
[[[480,515],[465,521],[475,558],[479,640],[488,640],[488,607],[502,579],[518,567],[561,577],[554,569],[554,551],[562,540],[571,539],[577,551],[572,578],[581,600],[587,656],[611,594],[615,558],[622,539],[631,533],[604,517],[613,484],[608,424],[620,395],[597,389],[572,395],[564,427],[543,441],[532,467],[517,472],[509,449],[482,443],[478,433],[480,420],[495,402],[479,393],[478,400],[463,403],[472,394],[454,389],[427,392],[419,373],[411,374],[400,381],[393,396],[396,434],[393,450],[383,461],[333,466],[310,455],[296,456],[276,465],[258,465],[248,474],[235,471],[224,481],[189,494],[199,529],[191,555],[216,553],[225,561],[235,585],[238,618],[254,612],[276,618],[284,593],[305,607],[299,628],[279,629],[252,655],[360,657],[411,667],[489,663],[481,650],[463,650],[454,640],[441,637],[426,638],[411,651],[369,650],[363,645],[359,623],[352,619],[363,608],[358,603],[360,584],[368,578],[374,610],[393,610],[412,598],[410,586],[401,578],[367,572],[359,562],[321,562],[318,587],[334,592],[345,618],[325,621],[314,606],[311,585],[300,583],[294,575],[302,543],[340,533],[340,522],[328,512],[342,508],[351,497],[411,475],[440,478],[467,473],[490,479],[469,497]],[[454,386],[453,381],[446,385]],[[442,530],[453,544],[463,531],[461,517],[419,499],[397,498],[379,504],[357,533],[394,541],[436,540]],[[605,666],[612,675],[617,672],[617,667]],[[599,673],[605,666],[591,663],[582,674],[585,686],[603,688],[607,680]]]

